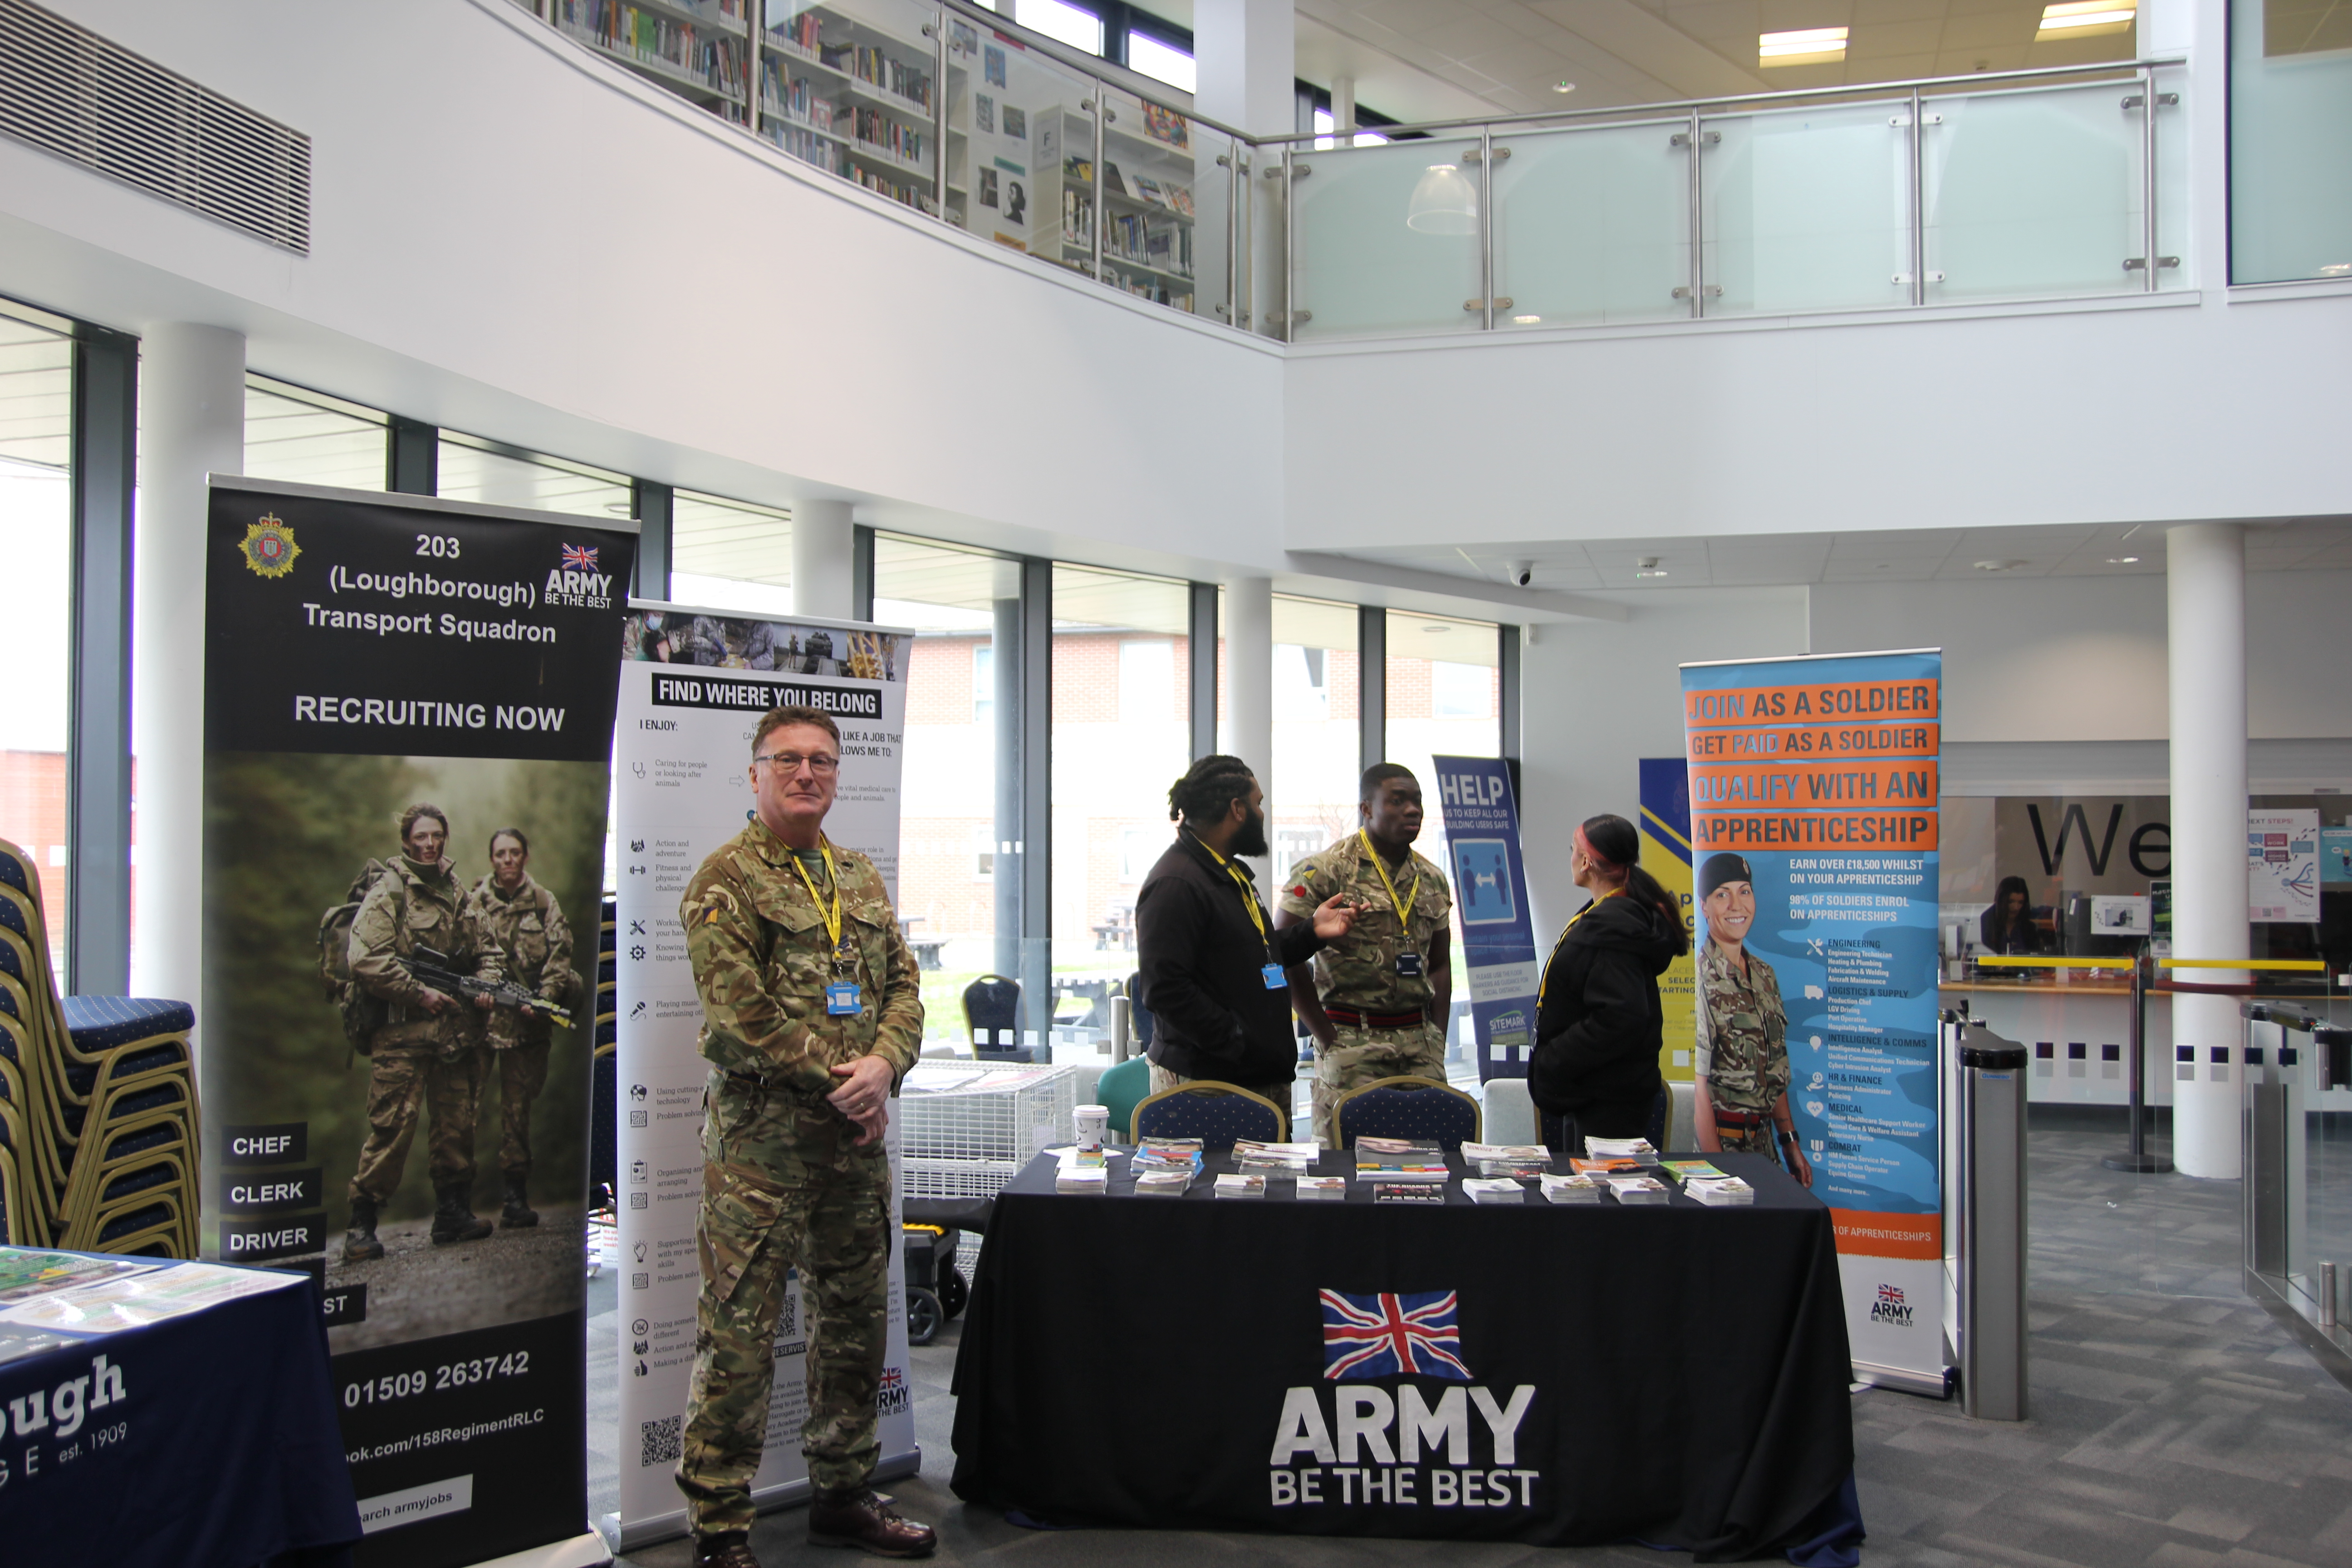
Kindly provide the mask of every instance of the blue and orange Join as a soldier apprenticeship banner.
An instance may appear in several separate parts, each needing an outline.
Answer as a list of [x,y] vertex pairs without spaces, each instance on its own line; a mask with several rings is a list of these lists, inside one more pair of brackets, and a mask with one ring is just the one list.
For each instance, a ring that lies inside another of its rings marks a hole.
[[1691,860],[1698,886],[1717,884],[1696,940],[1778,980],[1788,1103],[1837,1220],[1856,1373],[1940,1385],[1943,654],[1682,665],[1682,715]]

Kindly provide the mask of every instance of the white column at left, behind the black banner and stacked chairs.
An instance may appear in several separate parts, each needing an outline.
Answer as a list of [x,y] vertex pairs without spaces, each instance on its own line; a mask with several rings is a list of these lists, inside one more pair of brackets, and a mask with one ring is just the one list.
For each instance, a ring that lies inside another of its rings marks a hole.
[[132,994],[205,1027],[207,473],[245,473],[245,334],[172,322],[139,346],[139,531],[132,597]]

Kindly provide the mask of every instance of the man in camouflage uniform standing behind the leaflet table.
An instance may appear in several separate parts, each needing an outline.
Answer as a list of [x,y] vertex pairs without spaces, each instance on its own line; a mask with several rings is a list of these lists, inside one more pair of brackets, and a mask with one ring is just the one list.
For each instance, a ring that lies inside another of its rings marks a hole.
[[[1414,853],[1421,780],[1381,762],[1364,769],[1362,827],[1291,867],[1275,924],[1315,914],[1334,893],[1355,929],[1291,969],[1291,1001],[1315,1034],[1315,1138],[1338,1147],[1331,1105],[1392,1077],[1446,1077],[1454,1006],[1454,896],[1442,870]],[[1399,905],[1406,910],[1399,919]]]

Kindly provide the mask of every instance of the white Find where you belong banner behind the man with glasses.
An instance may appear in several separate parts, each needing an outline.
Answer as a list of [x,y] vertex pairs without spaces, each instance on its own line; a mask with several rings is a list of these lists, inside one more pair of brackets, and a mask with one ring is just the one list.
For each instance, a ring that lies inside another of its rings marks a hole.
[[[826,837],[873,858],[898,898],[898,778],[913,632],[844,621],[769,621],[630,599],[621,632],[614,736],[619,961],[614,1009],[621,1126],[621,1549],[682,1535],[677,1455],[694,1375],[703,1197],[703,1011],[677,900],[703,858],[753,816],[750,736],[760,715],[800,703],[842,729],[840,792]],[[896,1107],[894,1107],[896,1110]],[[889,1347],[882,1363],[877,1476],[910,1474],[915,1406],[906,1354],[898,1237],[898,1124],[891,1150]],[[760,1507],[807,1495],[800,1422],[809,1321],[795,1279],[776,1319],[776,1387],[753,1479]]]

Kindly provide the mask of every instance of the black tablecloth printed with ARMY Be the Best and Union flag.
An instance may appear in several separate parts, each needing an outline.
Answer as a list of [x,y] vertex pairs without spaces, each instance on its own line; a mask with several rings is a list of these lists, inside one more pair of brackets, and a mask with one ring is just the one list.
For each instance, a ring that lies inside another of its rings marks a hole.
[[[1477,1206],[1458,1175],[1425,1208],[1362,1182],[1301,1201],[1284,1178],[1218,1199],[1223,1157],[1181,1199],[1134,1197],[1124,1159],[1108,1197],[1075,1197],[1040,1157],[981,1251],[955,1495],[1056,1523],[1642,1540],[1698,1561],[1813,1537],[1853,1472],[1830,1211],[1764,1157],[1708,1159],[1755,1206],[1555,1206],[1534,1187]],[[1428,1331],[1404,1335],[1414,1373],[1327,1375],[1364,1342],[1348,1324],[1406,1312]],[[1418,1420],[1381,1427],[1383,1408]]]

